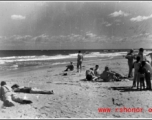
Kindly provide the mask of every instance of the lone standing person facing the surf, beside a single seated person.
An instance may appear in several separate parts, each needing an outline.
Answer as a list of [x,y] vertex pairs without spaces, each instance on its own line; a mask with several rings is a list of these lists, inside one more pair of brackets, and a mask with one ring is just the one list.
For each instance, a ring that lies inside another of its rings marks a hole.
[[78,57],[77,57],[77,72],[81,72],[82,62],[83,62],[83,55],[82,55],[81,51],[78,51]]

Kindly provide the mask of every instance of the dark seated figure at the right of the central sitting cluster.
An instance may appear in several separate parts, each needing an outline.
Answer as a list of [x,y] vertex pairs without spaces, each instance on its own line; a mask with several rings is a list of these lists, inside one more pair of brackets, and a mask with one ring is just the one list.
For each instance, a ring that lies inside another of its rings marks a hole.
[[116,73],[110,71],[108,66],[105,67],[105,70],[100,75],[100,78],[103,79],[104,82],[120,81],[120,79],[116,77]]

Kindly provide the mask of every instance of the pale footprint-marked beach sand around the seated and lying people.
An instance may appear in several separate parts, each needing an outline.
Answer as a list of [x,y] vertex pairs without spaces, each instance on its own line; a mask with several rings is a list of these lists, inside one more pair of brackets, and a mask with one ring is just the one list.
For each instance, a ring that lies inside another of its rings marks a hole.
[[[83,71],[76,70],[62,76],[64,66],[48,66],[41,69],[25,70],[1,75],[1,81],[8,85],[53,90],[54,94],[24,94],[32,104],[15,103],[4,107],[0,101],[0,118],[150,118],[152,112],[152,92],[132,90],[132,81],[89,82],[84,81],[85,71],[98,64],[103,71],[105,65],[123,75],[127,75],[126,59],[93,60],[83,63]],[[142,108],[142,112],[115,112],[116,108]],[[111,112],[98,112],[98,108],[110,108]]]

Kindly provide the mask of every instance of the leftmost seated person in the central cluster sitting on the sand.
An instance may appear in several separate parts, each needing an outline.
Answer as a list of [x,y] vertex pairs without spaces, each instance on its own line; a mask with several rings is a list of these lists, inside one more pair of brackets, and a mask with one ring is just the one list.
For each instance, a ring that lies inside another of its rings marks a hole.
[[86,80],[88,81],[95,81],[97,77],[94,74],[93,68],[86,70]]

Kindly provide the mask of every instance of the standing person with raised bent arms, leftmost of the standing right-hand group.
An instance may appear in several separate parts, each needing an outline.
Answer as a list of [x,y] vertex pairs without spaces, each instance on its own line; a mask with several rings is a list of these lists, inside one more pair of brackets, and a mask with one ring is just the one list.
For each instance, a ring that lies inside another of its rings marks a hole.
[[133,52],[134,51],[131,49],[130,52],[125,56],[125,58],[128,59],[128,67],[129,67],[128,78],[133,77],[132,69],[133,69],[133,61],[135,58]]

